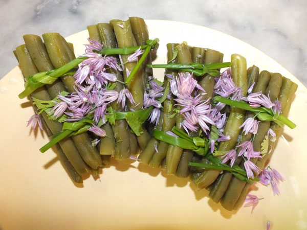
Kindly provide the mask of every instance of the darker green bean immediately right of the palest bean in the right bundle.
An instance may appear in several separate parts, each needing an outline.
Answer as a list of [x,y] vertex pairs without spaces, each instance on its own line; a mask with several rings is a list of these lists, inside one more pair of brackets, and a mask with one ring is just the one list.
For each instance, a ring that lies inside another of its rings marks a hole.
[[[256,84],[258,81],[258,77],[259,77],[259,68],[255,65],[253,65],[252,67],[249,67],[247,70],[247,81],[248,81],[248,88],[251,87],[252,84]],[[254,87],[255,88],[255,87]],[[246,112],[246,116],[245,116],[245,120],[247,120],[248,118],[252,118],[254,116],[254,114],[252,114],[251,112],[247,111]],[[241,134],[241,137],[239,138],[237,145],[242,144],[245,141],[250,141],[252,138],[252,133],[247,133]],[[236,150],[237,153],[239,153],[239,151],[242,149],[242,147],[238,147],[238,149]],[[240,162],[242,160],[242,157],[237,157],[235,159],[234,165],[239,165]],[[228,186],[229,186],[229,182],[232,178],[232,174],[230,172],[224,171],[223,174],[220,174],[216,181],[214,182],[214,185],[212,186],[212,189],[209,193],[209,196],[211,197],[211,199],[214,202],[218,202],[222,199],[223,195],[225,194]]]

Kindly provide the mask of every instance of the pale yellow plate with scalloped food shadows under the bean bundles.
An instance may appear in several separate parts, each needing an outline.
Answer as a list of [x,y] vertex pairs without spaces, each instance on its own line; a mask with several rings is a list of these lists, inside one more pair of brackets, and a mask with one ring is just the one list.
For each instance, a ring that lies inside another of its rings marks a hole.
[[[253,214],[251,207],[228,212],[196,191],[188,179],[166,176],[160,170],[133,160],[115,162],[103,169],[100,178],[75,186],[53,150],[40,153],[46,134],[32,132],[26,121],[33,114],[23,90],[23,76],[16,66],[0,81],[0,228],[1,229],[306,229],[305,195],[307,150],[307,89],[285,68],[251,45],[224,33],[182,22],[147,20],[150,38],[160,39],[155,63],[166,62],[166,43],[187,41],[190,45],[242,54],[248,66],[279,72],[296,82],[298,90],[289,118],[297,124],[284,129],[271,159],[286,181],[281,195],[270,187],[253,186],[252,194],[264,197]],[[77,55],[84,52],[87,32],[67,39]],[[163,78],[163,70],[155,70]]]

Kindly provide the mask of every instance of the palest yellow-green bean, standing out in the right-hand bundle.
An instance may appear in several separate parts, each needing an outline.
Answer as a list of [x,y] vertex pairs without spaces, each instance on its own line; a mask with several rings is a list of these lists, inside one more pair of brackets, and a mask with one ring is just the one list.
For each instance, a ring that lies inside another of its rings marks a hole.
[[[231,55],[231,73],[235,85],[242,88],[243,96],[247,95],[247,69],[246,59],[238,54]],[[229,135],[230,140],[221,142],[218,151],[228,151],[233,149],[240,133],[240,128],[244,122],[245,110],[231,107],[229,118],[226,122],[224,135]],[[194,180],[197,188],[207,188],[214,182],[221,170],[207,169],[199,178]]]

